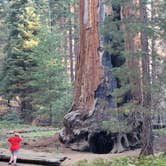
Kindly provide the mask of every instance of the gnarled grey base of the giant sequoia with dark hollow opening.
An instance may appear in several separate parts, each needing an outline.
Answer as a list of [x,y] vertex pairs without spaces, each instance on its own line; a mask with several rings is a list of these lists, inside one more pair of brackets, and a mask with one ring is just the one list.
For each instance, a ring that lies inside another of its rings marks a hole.
[[[99,113],[99,112],[98,112]],[[100,112],[101,113],[101,112]],[[140,148],[139,127],[131,132],[113,133],[101,127],[102,114],[85,114],[85,111],[72,111],[65,116],[60,133],[60,141],[73,150],[88,151],[97,154],[121,153]]]

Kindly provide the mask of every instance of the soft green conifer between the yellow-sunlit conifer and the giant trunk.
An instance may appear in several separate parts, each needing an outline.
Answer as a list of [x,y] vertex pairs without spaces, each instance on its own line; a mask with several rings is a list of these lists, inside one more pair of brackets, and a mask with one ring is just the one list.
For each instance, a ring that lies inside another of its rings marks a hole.
[[33,49],[38,67],[32,83],[38,88],[31,96],[34,122],[47,119],[51,125],[60,125],[72,97],[69,75],[65,70],[64,56],[59,50],[63,34],[58,30],[50,31],[42,27],[40,42]]

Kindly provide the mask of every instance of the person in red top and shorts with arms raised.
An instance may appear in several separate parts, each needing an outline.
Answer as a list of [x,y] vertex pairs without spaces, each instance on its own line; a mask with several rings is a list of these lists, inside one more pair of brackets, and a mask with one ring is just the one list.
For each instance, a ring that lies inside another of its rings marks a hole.
[[11,151],[9,165],[11,165],[13,162],[14,166],[17,166],[17,155],[20,150],[21,141],[22,138],[18,133],[14,133],[13,136],[8,138],[8,142],[10,143],[10,151]]

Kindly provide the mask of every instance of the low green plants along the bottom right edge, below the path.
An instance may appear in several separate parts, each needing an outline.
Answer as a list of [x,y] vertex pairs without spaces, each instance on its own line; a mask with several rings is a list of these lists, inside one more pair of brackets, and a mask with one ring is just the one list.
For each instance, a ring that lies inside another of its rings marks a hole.
[[149,156],[142,159],[137,158],[116,158],[116,159],[96,159],[94,161],[80,161],[73,166],[166,166],[166,155]]

